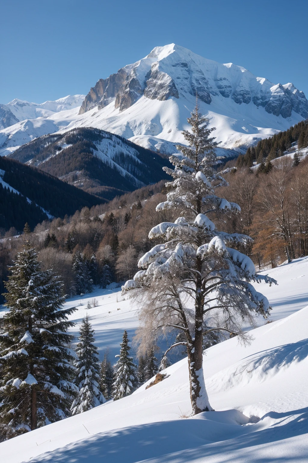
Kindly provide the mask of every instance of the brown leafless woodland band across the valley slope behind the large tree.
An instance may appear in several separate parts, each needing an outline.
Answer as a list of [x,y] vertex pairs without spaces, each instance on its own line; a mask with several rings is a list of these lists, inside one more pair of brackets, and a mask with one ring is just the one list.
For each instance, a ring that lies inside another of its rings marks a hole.
[[[247,168],[224,174],[229,186],[219,187],[217,194],[236,201],[242,212],[224,217],[222,223],[209,213],[223,231],[253,237],[242,252],[258,268],[275,267],[288,258],[308,254],[308,159],[293,164],[284,156],[268,174],[256,174]],[[115,280],[132,278],[139,257],[153,246],[148,238],[151,228],[176,219],[178,214],[171,210],[156,211],[157,203],[164,200],[161,181],[109,203],[84,207],[65,220],[44,220],[27,239],[40,250],[44,266],[60,273],[66,294],[78,290],[72,270],[76,253],[85,264],[85,275],[90,272],[93,283],[104,287]],[[1,261],[6,265],[12,262],[23,242],[23,236],[9,243],[2,240]],[[6,278],[6,265],[1,280]],[[79,288],[80,292],[86,290]]]

